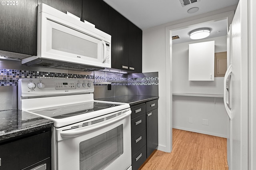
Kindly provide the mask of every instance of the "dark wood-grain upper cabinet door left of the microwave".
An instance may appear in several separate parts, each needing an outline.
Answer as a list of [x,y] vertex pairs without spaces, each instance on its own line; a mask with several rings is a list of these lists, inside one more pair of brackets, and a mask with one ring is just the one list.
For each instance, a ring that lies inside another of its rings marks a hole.
[[[2,1],[0,50],[37,54],[37,0]],[[12,5],[10,5],[10,3]]]

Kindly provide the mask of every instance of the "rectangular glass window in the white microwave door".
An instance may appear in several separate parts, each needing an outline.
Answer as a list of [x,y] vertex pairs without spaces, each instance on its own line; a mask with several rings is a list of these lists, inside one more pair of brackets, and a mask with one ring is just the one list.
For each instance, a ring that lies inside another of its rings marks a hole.
[[52,49],[97,59],[98,44],[52,28]]

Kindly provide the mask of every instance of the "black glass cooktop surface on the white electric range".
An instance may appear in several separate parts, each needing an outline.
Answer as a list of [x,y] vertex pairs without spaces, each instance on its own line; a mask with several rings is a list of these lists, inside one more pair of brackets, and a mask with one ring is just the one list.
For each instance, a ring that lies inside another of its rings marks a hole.
[[110,107],[118,106],[112,103],[100,103],[100,102],[85,102],[77,103],[72,105],[48,107],[44,109],[30,110],[30,112],[44,115],[46,117],[52,117],[55,119],[63,119],[67,117],[72,117],[76,115],[86,114],[94,111],[99,111],[102,109],[107,109]]

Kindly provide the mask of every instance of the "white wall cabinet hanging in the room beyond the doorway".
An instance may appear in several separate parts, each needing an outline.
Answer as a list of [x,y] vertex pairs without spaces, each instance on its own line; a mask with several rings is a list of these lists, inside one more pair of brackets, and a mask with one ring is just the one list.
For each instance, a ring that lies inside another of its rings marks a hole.
[[214,81],[214,41],[189,44],[188,80]]

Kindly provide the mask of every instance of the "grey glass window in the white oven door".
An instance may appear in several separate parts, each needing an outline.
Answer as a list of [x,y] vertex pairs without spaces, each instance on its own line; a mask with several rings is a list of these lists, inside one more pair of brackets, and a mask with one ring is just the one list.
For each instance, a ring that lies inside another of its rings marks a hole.
[[80,142],[80,170],[106,168],[124,153],[123,125]]

